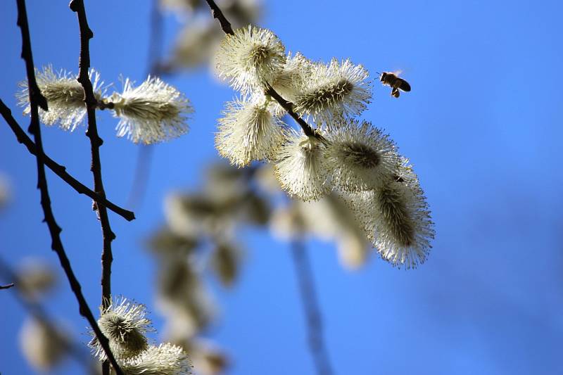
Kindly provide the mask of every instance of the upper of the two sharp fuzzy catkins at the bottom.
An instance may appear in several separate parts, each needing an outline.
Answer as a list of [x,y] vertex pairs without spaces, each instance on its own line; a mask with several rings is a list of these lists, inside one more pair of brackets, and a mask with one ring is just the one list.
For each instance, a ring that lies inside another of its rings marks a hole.
[[[144,305],[126,298],[112,298],[106,309],[100,307],[100,312],[98,325],[108,338],[110,349],[116,358],[134,357],[147,348],[145,333],[153,329],[151,320],[146,318]],[[95,336],[89,346],[100,361],[106,360],[106,352]]]

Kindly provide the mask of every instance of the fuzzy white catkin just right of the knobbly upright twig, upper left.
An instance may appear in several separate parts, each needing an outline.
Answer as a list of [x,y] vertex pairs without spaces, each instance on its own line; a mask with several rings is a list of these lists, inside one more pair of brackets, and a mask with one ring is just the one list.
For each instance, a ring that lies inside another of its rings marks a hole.
[[186,134],[187,120],[194,112],[184,94],[151,76],[138,87],[125,80],[123,92],[114,93],[108,101],[113,103],[114,116],[120,118],[118,136],[127,136],[136,144],[154,144]]

